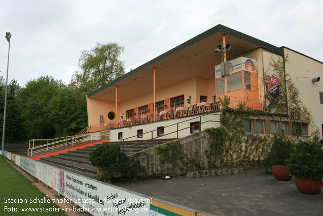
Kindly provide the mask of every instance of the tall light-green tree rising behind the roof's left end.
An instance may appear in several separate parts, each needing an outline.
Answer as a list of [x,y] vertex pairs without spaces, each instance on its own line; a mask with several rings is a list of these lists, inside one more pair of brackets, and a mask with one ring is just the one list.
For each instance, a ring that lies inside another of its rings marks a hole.
[[90,51],[82,51],[79,67],[71,83],[85,90],[93,91],[125,73],[124,63],[119,60],[124,48],[117,43],[99,44]]

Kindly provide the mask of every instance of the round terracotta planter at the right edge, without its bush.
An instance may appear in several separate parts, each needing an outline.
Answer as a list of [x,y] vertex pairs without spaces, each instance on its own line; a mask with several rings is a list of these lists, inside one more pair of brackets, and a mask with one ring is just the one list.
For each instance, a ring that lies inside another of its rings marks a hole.
[[297,189],[302,194],[319,194],[322,190],[322,179],[315,180],[313,178],[303,179],[295,176],[294,179]]

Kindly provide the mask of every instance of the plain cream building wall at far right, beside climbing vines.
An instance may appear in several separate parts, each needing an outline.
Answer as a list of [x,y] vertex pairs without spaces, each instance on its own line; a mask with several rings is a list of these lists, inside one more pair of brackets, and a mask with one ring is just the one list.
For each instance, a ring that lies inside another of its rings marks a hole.
[[[300,91],[303,105],[310,111],[314,125],[322,136],[323,104],[320,104],[319,91],[323,91],[323,64],[300,53],[284,48],[289,62],[285,64],[286,73],[289,74]],[[299,76],[299,77],[298,77]],[[309,77],[309,78],[300,78]],[[319,82],[312,82],[313,77],[320,77]]]

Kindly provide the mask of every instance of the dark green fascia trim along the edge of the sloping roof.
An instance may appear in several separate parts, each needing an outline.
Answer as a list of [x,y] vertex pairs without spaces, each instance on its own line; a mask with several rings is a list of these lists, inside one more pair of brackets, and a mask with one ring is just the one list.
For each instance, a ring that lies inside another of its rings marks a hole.
[[182,50],[184,50],[184,49],[186,49],[186,48],[188,48],[188,47],[202,41],[203,39],[208,38],[208,37],[210,37],[210,36],[212,36],[214,34],[217,34],[219,32],[224,33],[226,35],[231,35],[231,36],[239,38],[239,39],[241,39],[243,41],[255,44],[257,46],[260,46],[261,48],[267,49],[270,52],[274,52],[274,53],[276,53],[278,55],[282,55],[282,56],[284,55],[284,49],[283,48],[273,46],[273,45],[268,44],[268,43],[266,43],[264,41],[261,41],[261,40],[259,40],[257,38],[253,38],[253,37],[248,36],[246,34],[240,33],[237,30],[234,30],[232,28],[228,28],[228,27],[226,27],[224,25],[218,24],[218,25],[206,30],[205,32],[199,34],[198,36],[184,42],[183,44],[178,45],[175,48],[168,50],[167,52],[165,52],[165,53],[159,55],[158,57],[148,61],[147,63],[139,66],[138,68],[133,69],[132,71],[126,73],[125,75],[113,80],[112,82],[103,85],[102,87],[100,87],[100,88],[96,89],[95,91],[91,92],[90,94],[88,94],[88,98],[95,95],[95,94],[97,94],[101,90],[103,90],[105,88],[108,88],[108,87],[110,87],[112,85],[115,85],[116,83],[120,82],[121,80],[123,80],[125,78],[128,78],[128,77],[140,72],[141,70],[144,70],[144,69],[158,63],[159,61],[161,61],[161,60],[163,60],[163,59],[165,59],[165,58],[167,58],[167,57],[169,57],[169,56],[171,56],[171,55],[173,55],[173,54],[175,54],[177,52],[180,52],[180,51],[182,51]]

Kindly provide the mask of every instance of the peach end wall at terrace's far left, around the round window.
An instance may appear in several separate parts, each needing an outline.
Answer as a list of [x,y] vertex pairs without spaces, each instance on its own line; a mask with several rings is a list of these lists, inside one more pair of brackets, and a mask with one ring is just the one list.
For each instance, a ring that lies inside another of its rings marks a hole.
[[[118,103],[119,106],[120,103]],[[86,98],[87,112],[88,112],[88,124],[97,125],[100,124],[100,115],[103,115],[103,122],[111,121],[107,117],[107,113],[115,111],[116,103],[111,101],[103,101],[99,99]]]

